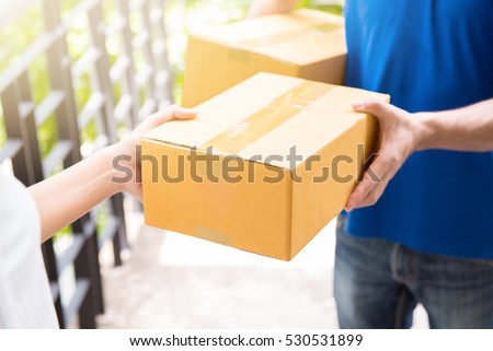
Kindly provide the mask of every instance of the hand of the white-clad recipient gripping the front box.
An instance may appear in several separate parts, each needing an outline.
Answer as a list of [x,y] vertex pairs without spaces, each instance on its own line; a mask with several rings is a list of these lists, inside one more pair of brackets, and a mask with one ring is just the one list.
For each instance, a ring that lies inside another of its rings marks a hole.
[[140,137],[167,121],[172,119],[195,118],[196,114],[197,113],[194,109],[184,108],[176,105],[169,106],[165,109],[147,117],[134,129],[128,139],[113,145],[114,156],[125,156],[125,160],[129,160],[128,163],[125,163],[125,165],[131,169],[131,179],[128,182],[117,183],[117,191],[131,194],[137,199],[141,200],[142,186],[138,182],[140,178],[140,154],[138,154],[140,150]]

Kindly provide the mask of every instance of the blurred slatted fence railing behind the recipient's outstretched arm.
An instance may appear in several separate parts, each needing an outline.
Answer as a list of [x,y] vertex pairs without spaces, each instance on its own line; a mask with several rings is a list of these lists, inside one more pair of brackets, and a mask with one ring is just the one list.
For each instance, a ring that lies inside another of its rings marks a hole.
[[[11,162],[14,175],[25,186],[116,142],[140,118],[172,101],[164,0],[69,2],[69,9],[61,9],[64,1],[31,1],[42,9],[44,30],[0,75],[7,131],[0,164]],[[73,28],[81,22],[88,24],[83,33]],[[87,36],[88,45],[80,55],[70,52],[68,37],[74,32],[79,37]],[[46,59],[49,91],[36,102],[36,82],[30,68],[39,57]],[[81,81],[85,92],[82,97],[78,93]],[[54,119],[49,132],[56,134],[56,141],[43,155],[41,126],[49,118]],[[88,133],[92,137],[84,137]],[[100,221],[93,210],[70,225],[70,233],[65,234],[70,236],[70,245],[62,254],[57,253],[54,239],[43,245],[61,327],[78,315],[79,327],[94,328],[95,316],[104,312],[99,250],[104,242],[112,241],[115,265],[121,265],[121,251],[127,245],[124,197],[112,197],[106,208]],[[74,292],[70,296],[65,295],[60,284],[67,269],[74,272]]]

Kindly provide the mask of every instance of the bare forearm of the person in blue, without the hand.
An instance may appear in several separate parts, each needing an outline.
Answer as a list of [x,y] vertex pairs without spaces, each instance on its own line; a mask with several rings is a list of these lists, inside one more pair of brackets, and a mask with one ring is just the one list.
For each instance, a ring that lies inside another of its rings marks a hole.
[[422,126],[419,150],[493,150],[493,98],[463,108],[416,114]]

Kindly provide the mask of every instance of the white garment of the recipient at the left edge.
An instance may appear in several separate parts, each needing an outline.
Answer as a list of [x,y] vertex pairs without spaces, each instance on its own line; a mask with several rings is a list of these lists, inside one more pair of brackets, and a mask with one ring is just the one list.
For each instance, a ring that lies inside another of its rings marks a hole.
[[58,328],[36,204],[23,185],[1,169],[0,328]]

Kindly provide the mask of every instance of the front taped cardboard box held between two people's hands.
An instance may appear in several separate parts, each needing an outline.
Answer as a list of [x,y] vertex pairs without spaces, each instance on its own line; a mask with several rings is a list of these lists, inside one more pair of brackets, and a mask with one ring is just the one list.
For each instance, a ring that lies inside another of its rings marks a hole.
[[260,73],[199,105],[196,119],[146,133],[146,224],[290,260],[363,172],[377,122],[351,103],[367,97],[389,101]]

